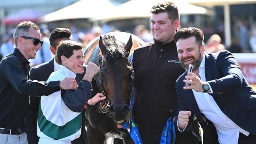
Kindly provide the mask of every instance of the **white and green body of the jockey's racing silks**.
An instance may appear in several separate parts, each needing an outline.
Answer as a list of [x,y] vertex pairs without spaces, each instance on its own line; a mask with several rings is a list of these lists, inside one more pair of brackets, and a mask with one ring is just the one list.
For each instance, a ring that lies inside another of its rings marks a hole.
[[[62,81],[76,74],[65,66],[53,72],[47,81]],[[71,111],[61,98],[61,90],[42,96],[38,111],[37,135],[44,139],[72,141],[81,135],[82,113]]]

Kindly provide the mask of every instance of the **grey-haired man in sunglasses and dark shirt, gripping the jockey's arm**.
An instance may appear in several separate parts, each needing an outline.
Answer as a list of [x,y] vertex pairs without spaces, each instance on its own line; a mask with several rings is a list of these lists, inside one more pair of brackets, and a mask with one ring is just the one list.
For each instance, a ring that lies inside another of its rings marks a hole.
[[20,22],[14,31],[15,50],[0,62],[0,144],[28,144],[23,133],[29,95],[48,96],[60,89],[76,89],[74,78],[62,81],[29,80],[29,59],[41,49],[40,30],[30,21]]

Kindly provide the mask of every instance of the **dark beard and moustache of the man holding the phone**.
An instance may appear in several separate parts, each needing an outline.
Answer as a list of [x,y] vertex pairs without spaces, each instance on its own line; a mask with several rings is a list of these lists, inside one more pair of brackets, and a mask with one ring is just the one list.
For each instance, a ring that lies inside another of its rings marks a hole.
[[180,65],[181,65],[185,70],[188,70],[189,65],[185,65],[184,60],[185,60],[185,59],[190,59],[190,58],[192,58],[192,61],[194,60],[193,63],[191,63],[191,65],[193,65],[192,71],[195,70],[195,69],[197,69],[198,66],[200,66],[200,64],[201,64],[201,62],[202,62],[202,55],[201,55],[200,51],[198,52],[198,55],[197,55],[197,56],[198,56],[198,58],[195,58],[195,57],[193,57],[193,56],[183,57],[183,58],[181,59],[181,61],[180,61]]

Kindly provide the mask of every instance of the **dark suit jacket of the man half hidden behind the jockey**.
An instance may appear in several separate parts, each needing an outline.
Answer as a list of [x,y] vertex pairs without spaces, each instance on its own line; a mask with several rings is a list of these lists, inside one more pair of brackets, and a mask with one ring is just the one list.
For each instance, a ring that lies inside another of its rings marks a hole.
[[[83,67],[84,72],[83,74],[76,74],[76,81],[79,82],[83,79],[83,76],[85,75],[86,67]],[[48,61],[46,63],[43,63],[41,65],[34,66],[30,69],[30,79],[31,80],[38,80],[38,81],[46,81],[50,74],[54,72],[54,59],[51,61]],[[93,94],[92,96],[95,96],[95,94],[98,92],[98,87],[96,84],[95,79],[92,80],[93,84]],[[24,131],[27,133],[28,137],[28,144],[37,144],[39,137],[37,137],[37,116],[38,116],[38,108],[39,108],[39,102],[41,100],[41,97],[30,97],[30,105],[29,110],[26,114],[26,121],[25,121],[25,129]],[[75,140],[72,141],[72,144],[87,144],[87,134],[85,131],[85,111],[82,111],[82,130],[81,130],[81,136]]]

